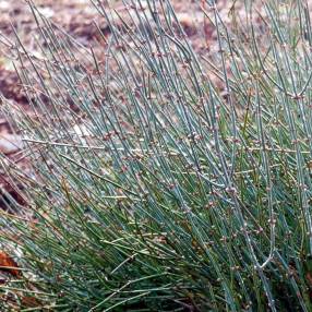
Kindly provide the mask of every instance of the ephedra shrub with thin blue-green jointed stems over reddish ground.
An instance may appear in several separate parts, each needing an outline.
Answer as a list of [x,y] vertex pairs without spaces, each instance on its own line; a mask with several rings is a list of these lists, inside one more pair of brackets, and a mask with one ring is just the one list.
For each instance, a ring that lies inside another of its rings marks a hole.
[[31,109],[3,99],[28,164],[1,160],[26,203],[0,218],[3,307],[311,311],[308,2],[233,1],[229,25],[203,2],[209,53],[170,1],[92,2],[101,53],[32,3],[41,56],[12,47]]

